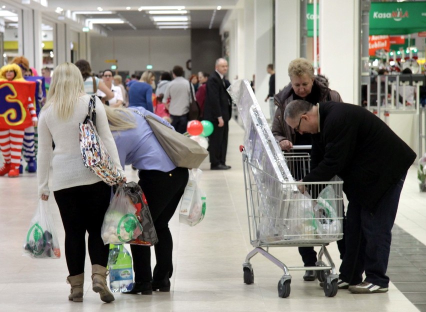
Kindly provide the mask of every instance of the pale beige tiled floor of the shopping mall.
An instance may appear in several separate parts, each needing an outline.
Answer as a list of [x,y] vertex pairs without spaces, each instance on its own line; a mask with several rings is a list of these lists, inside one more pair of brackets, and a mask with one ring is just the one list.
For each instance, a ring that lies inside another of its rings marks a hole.
[[[201,165],[205,219],[194,227],[180,224],[177,214],[171,220],[175,270],[169,293],[116,294],[113,303],[102,303],[91,290],[87,258],[84,301],[68,301],[64,256],[48,260],[22,256],[24,235],[37,204],[35,174],[0,177],[0,311],[417,311],[407,297],[426,310],[426,193],[418,192],[414,167],[408,172],[396,217],[389,263],[394,283],[389,292],[357,295],[340,290],[328,298],[317,281],[304,282],[302,271],[290,271],[290,296],[279,298],[276,285],[282,271],[261,255],[251,259],[254,283],[244,284],[242,262],[252,247],[238,151],[243,131],[232,121],[229,132],[227,162],[232,169],[210,171],[207,161]],[[129,167],[126,171],[128,180],[136,179],[135,171]],[[64,232],[53,197],[50,206],[63,252]],[[338,267],[335,243],[329,251]],[[295,247],[275,248],[271,253],[288,265],[301,265]]]

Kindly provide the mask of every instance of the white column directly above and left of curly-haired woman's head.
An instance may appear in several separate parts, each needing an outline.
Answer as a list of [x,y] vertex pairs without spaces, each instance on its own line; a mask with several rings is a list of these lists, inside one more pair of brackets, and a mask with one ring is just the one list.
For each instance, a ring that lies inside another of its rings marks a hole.
[[300,57],[300,0],[275,0],[275,93],[290,82],[288,64]]

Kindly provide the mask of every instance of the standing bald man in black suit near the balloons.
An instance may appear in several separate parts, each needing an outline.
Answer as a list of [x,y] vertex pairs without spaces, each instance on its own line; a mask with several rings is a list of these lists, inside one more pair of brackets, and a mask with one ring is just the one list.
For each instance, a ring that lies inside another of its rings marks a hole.
[[230,166],[225,163],[228,145],[228,121],[231,115],[231,99],[226,91],[229,82],[224,79],[227,71],[228,62],[226,59],[216,59],[215,71],[206,82],[204,119],[213,124],[213,132],[208,137],[211,170],[230,169]]

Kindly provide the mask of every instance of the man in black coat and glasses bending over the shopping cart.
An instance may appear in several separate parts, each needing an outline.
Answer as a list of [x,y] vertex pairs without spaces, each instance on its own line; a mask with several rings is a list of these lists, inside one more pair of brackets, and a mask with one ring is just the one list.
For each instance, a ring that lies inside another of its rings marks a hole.
[[312,134],[311,170],[302,181],[327,181],[334,175],[343,180],[349,204],[338,288],[386,292],[391,229],[414,151],[382,120],[357,105],[334,101],[312,105],[297,99],[288,103],[284,120],[294,131]]

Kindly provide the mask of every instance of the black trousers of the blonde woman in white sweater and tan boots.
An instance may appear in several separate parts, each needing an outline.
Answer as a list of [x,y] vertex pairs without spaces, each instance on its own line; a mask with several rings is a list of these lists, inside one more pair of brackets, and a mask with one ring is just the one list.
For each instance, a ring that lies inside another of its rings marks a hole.
[[100,228],[109,205],[111,187],[97,182],[56,190],[53,195],[65,230],[65,259],[69,275],[84,272],[86,231],[91,264],[106,266],[109,245],[103,243]]

